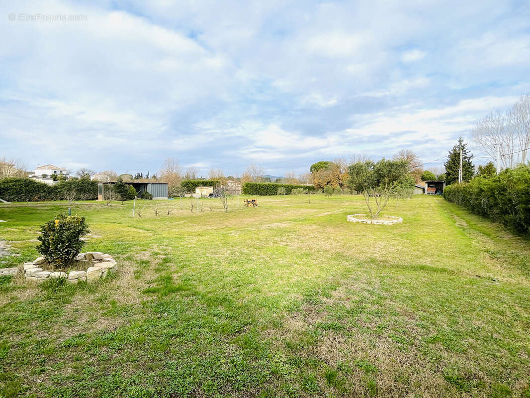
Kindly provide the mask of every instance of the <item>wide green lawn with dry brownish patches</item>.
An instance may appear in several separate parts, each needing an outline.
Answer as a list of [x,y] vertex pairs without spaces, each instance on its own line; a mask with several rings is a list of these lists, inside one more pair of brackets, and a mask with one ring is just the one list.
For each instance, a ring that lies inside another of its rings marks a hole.
[[[423,195],[395,226],[346,222],[358,196],[188,202],[74,204],[118,260],[98,284],[0,278],[0,396],[530,397],[527,239]],[[1,205],[0,266],[66,207]]]

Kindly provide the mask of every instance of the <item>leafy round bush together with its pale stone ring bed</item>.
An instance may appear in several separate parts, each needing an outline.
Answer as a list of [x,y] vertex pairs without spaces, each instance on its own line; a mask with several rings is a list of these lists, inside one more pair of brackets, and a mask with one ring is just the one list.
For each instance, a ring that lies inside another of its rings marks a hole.
[[26,281],[46,282],[54,287],[65,283],[95,282],[117,269],[111,255],[80,253],[83,236],[89,233],[84,217],[59,214],[41,226],[37,251],[41,257],[24,263]]

